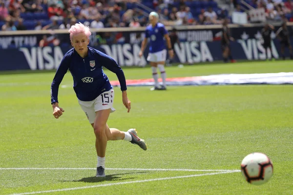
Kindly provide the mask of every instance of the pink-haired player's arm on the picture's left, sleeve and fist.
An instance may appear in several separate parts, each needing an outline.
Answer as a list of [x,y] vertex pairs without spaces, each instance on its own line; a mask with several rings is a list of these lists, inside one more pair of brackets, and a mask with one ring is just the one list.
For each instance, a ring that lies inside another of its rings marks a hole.
[[53,116],[55,118],[61,117],[63,115],[63,108],[59,107],[58,102],[58,90],[59,85],[61,81],[63,80],[64,75],[66,74],[67,70],[69,68],[69,57],[65,56],[63,57],[59,68],[56,71],[55,77],[53,78],[52,84],[51,84],[51,104],[53,108]]

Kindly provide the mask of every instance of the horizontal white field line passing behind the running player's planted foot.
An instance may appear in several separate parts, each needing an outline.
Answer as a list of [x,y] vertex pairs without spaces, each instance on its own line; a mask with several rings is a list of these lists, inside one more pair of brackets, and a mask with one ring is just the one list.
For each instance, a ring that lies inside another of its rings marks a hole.
[[[105,168],[106,170],[124,170],[124,171],[197,171],[197,172],[240,172],[240,170],[225,169],[132,169],[132,168]],[[96,170],[96,168],[0,168],[0,170]]]

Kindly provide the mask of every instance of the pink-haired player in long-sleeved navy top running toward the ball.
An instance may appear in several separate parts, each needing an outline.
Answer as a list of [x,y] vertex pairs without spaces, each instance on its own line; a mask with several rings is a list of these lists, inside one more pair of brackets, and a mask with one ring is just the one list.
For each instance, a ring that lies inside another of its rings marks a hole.
[[117,75],[121,85],[123,104],[128,109],[127,112],[130,111],[131,102],[127,98],[126,79],[121,67],[111,57],[88,47],[91,32],[84,24],[77,23],[71,26],[69,33],[71,45],[74,48],[64,55],[51,85],[53,116],[59,118],[63,115],[64,110],[59,107],[58,102],[58,89],[64,75],[69,70],[73,77],[73,89],[78,102],[96,136],[98,155],[96,177],[105,177],[105,151],[108,140],[123,139],[139,145],[143,150],[147,149],[146,143],[137,136],[135,129],[122,132],[109,128],[107,125],[110,113],[115,111],[113,108],[114,90],[102,66]]

